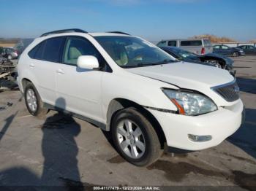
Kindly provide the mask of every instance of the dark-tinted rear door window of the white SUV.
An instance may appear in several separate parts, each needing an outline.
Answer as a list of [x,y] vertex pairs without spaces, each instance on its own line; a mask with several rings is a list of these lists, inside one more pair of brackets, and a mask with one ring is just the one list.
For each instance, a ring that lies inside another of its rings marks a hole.
[[42,55],[42,60],[59,62],[61,54],[61,46],[64,42],[64,37],[56,37],[47,39],[45,43],[45,50]]

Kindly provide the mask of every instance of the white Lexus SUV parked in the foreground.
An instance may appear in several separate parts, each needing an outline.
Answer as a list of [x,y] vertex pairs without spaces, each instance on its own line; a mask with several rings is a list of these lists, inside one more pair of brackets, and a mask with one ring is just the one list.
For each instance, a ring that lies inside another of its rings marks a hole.
[[31,114],[56,109],[92,122],[135,165],[153,163],[165,143],[220,144],[240,127],[244,108],[227,71],[177,61],[121,32],[43,34],[20,56],[18,85]]

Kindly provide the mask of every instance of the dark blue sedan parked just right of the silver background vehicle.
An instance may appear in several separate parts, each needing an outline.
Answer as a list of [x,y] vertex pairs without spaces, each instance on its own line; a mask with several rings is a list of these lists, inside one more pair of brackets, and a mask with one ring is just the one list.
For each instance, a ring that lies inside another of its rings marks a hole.
[[237,57],[239,55],[245,55],[244,50],[238,47],[229,47],[227,45],[215,45],[214,46],[214,53],[220,55],[233,55]]

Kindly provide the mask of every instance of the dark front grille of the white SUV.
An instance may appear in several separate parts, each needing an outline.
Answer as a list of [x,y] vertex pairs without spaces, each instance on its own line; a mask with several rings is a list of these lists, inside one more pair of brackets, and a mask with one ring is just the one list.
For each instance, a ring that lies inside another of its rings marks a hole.
[[225,98],[226,101],[236,101],[239,98],[239,87],[235,82],[228,83],[226,85],[219,85],[217,87],[212,87],[212,89]]

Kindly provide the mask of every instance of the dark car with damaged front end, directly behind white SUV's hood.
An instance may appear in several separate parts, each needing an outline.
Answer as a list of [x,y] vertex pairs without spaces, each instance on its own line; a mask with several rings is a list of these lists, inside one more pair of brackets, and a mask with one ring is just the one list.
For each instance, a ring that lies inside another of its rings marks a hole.
[[208,53],[206,55],[196,55],[193,52],[182,50],[178,47],[161,47],[168,54],[180,61],[186,61],[190,63],[200,63],[215,66],[221,69],[230,71],[230,74],[234,75],[233,63],[234,61],[227,58],[225,55],[217,55],[215,53]]

